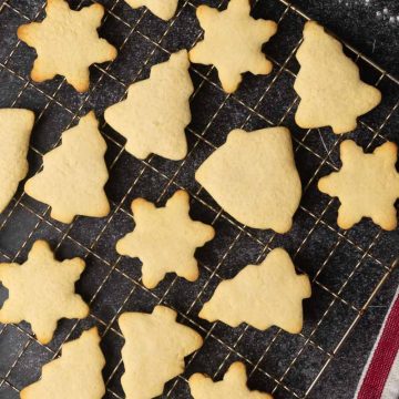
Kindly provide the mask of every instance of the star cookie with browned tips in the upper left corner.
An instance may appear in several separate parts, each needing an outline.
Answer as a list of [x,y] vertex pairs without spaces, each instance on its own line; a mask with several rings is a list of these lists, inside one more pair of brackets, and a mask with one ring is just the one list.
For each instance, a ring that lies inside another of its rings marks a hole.
[[48,0],[45,13],[42,22],[18,29],[18,38],[38,53],[32,80],[43,82],[59,74],[79,92],[89,90],[89,66],[112,61],[117,54],[113,45],[99,38],[104,8],[95,3],[73,11],[65,0]]

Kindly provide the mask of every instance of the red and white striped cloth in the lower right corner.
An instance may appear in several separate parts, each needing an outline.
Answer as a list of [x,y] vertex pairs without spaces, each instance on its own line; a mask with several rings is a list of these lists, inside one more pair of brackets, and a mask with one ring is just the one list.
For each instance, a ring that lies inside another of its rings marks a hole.
[[377,341],[362,371],[355,398],[399,398],[399,296],[383,320]]

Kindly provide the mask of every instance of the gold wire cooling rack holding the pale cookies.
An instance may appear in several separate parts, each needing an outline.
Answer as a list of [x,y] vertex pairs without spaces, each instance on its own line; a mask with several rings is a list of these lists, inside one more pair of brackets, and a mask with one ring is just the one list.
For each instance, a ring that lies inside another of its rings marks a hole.
[[[180,1],[176,16],[168,22],[145,9],[132,10],[123,0],[99,2],[106,8],[100,33],[119,48],[119,58],[92,66],[90,91],[78,94],[62,78],[41,84],[29,80],[34,51],[18,41],[16,31],[22,23],[42,19],[45,2],[0,0],[0,105],[35,111],[30,175],[40,168],[43,153],[60,143],[61,133],[94,109],[109,145],[106,193],[112,205],[104,218],[78,217],[63,225],[51,219],[49,208],[20,188],[0,216],[1,262],[22,263],[34,241],[48,239],[59,258],[85,259],[86,269],[76,289],[91,306],[85,320],[61,320],[54,339],[47,346],[37,341],[24,323],[0,325],[0,398],[19,397],[23,387],[40,377],[41,367],[60,355],[65,340],[76,338],[92,325],[99,327],[106,357],[105,397],[123,398],[120,385],[123,338],[117,317],[123,311],[151,311],[156,304],[177,310],[178,320],[204,337],[203,348],[186,359],[185,372],[166,383],[164,397],[188,398],[190,375],[201,371],[221,379],[235,360],[245,362],[253,389],[273,392],[276,398],[318,397],[321,376],[328,374],[327,366],[392,272],[399,249],[398,232],[382,232],[369,221],[348,232],[340,231],[336,225],[338,202],[316,188],[320,176],[339,168],[338,144],[342,139],[329,129],[306,131],[294,123],[298,103],[293,90],[298,71],[295,51],[308,17],[285,0],[255,2],[254,17],[273,19],[279,24],[277,34],[265,47],[274,63],[273,73],[246,74],[239,90],[226,95],[214,68],[192,65],[195,92],[191,100],[193,120],[187,127],[187,157],[181,162],[157,156],[139,161],[124,151],[123,139],[105,125],[104,109],[122,100],[129,84],[147,78],[152,65],[201,39],[195,18],[198,3],[224,8],[226,1]],[[76,9],[90,1],[70,4]],[[345,139],[355,139],[367,150],[386,140],[397,141],[398,80],[351,47],[346,45],[345,51],[359,64],[362,79],[383,94],[382,103],[361,117],[358,129]],[[195,170],[232,129],[250,131],[279,124],[293,133],[304,186],[295,225],[286,235],[236,223],[194,180]],[[201,268],[197,282],[167,275],[155,289],[149,290],[141,284],[140,262],[119,256],[115,242],[133,227],[130,209],[133,198],[142,196],[163,205],[178,188],[191,194],[192,217],[212,224],[216,237],[196,253]],[[197,317],[202,304],[222,279],[232,278],[247,264],[259,263],[278,246],[290,253],[298,270],[307,273],[313,282],[313,297],[304,304],[301,334],[294,336],[278,328],[258,331],[245,325],[233,329]],[[0,300],[6,296],[2,288]]]

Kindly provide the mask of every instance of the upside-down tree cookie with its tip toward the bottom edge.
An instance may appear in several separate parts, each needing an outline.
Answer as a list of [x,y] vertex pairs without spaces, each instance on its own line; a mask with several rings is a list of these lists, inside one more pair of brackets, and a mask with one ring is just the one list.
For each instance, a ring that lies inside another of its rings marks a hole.
[[119,325],[125,338],[122,387],[126,399],[162,395],[165,382],[184,370],[184,357],[203,345],[201,336],[176,323],[176,313],[164,306],[150,315],[125,313]]

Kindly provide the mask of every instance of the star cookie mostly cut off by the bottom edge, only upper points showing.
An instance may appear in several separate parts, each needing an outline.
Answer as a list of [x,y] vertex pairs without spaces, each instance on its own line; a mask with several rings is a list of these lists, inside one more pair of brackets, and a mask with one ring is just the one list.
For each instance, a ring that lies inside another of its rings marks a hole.
[[249,390],[246,380],[244,364],[236,361],[222,381],[214,382],[209,377],[196,372],[190,377],[188,385],[194,399],[273,399],[268,393]]

